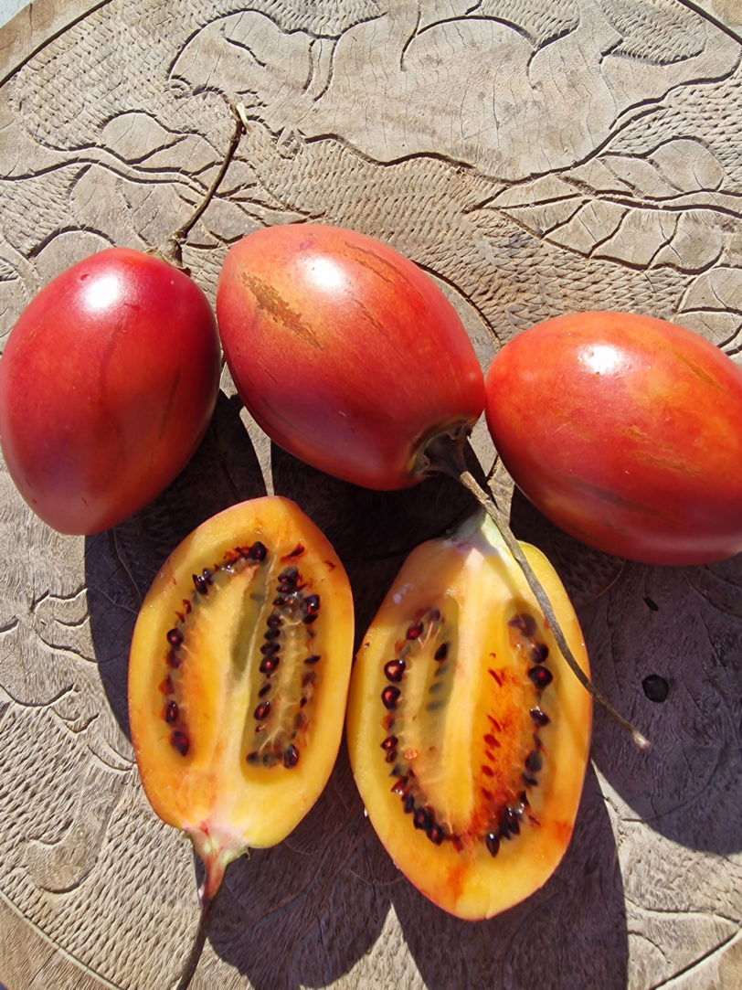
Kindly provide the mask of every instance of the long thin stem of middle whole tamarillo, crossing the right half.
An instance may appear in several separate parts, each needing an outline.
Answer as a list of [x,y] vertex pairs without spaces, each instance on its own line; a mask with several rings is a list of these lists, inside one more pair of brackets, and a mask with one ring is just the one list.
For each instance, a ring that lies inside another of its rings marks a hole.
[[538,580],[533,568],[528,563],[521,546],[513,536],[508,520],[501,512],[492,495],[485,491],[484,487],[466,467],[464,462],[464,449],[468,446],[468,439],[463,433],[454,437],[445,434],[434,438],[425,448],[425,454],[427,456],[427,471],[439,471],[442,474],[447,474],[450,477],[455,478],[476,498],[490,519],[492,519],[495,523],[501,537],[503,538],[503,542],[510,550],[510,554],[520,567],[520,570],[523,572],[525,580],[528,582],[528,587],[533,592],[536,602],[543,612],[544,618],[549,625],[549,629],[551,630],[551,633],[556,640],[556,643],[559,646],[559,649],[561,650],[570,670],[574,673],[586,691],[588,691],[594,701],[599,704],[601,708],[603,708],[603,711],[605,711],[607,715],[609,715],[610,718],[621,727],[621,729],[629,734],[633,742],[640,749],[648,749],[650,746],[649,740],[643,736],[627,719],[624,719],[624,717],[617,712],[615,708],[613,708],[607,698],[603,696],[602,692],[599,691],[575,659],[575,654],[572,652],[569,644],[567,643],[567,639],[562,631],[561,625],[559,624],[559,620],[554,612],[549,596],[546,594],[546,591],[544,590],[541,582]]

